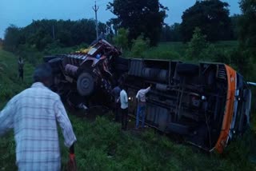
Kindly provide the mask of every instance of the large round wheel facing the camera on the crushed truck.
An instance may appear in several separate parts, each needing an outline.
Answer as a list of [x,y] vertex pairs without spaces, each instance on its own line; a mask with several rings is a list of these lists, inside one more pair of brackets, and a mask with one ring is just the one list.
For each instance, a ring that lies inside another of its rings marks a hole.
[[82,73],[77,82],[78,93],[81,96],[89,96],[94,92],[94,78],[90,73]]

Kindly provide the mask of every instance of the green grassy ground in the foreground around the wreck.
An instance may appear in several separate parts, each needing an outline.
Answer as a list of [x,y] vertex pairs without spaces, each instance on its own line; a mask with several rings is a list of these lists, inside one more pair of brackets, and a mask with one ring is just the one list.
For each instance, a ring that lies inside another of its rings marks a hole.
[[[226,46],[230,46],[230,42]],[[147,53],[166,49],[182,56],[186,46],[179,42],[163,43]],[[0,49],[0,63],[4,67],[4,70],[0,70],[0,109],[14,94],[26,89],[32,82],[34,66],[28,62],[25,64],[25,81],[18,81],[17,60],[14,54]],[[95,121],[69,113],[78,138],[75,145],[78,170],[256,170],[256,138],[252,131],[231,142],[219,155],[174,141],[156,133],[154,129],[122,131],[121,125],[112,121],[111,113],[97,117]],[[0,170],[17,169],[13,136],[11,131],[0,137]],[[63,145],[62,138],[60,144],[62,170],[66,170],[68,149]]]

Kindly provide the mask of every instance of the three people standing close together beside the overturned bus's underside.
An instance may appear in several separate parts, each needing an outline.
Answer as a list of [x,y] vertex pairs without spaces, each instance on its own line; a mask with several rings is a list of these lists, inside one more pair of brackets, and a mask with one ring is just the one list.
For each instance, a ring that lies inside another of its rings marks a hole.
[[[136,94],[137,99],[137,113],[136,113],[136,125],[135,129],[139,129],[140,120],[142,121],[141,128],[145,127],[145,117],[146,117],[146,93],[151,89],[151,85],[146,89],[138,90]],[[122,129],[127,129],[128,123],[128,96],[126,93],[126,87],[124,85],[118,85],[112,90],[114,96],[114,113],[115,121],[119,121],[120,111],[121,111],[121,123]]]

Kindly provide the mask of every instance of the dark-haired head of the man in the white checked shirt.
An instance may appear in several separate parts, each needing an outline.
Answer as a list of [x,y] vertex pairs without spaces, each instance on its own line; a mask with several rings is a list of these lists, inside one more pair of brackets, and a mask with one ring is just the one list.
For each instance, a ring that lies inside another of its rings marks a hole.
[[42,82],[47,87],[50,87],[52,83],[52,70],[49,64],[44,63],[36,67],[34,70],[33,79],[34,82]]

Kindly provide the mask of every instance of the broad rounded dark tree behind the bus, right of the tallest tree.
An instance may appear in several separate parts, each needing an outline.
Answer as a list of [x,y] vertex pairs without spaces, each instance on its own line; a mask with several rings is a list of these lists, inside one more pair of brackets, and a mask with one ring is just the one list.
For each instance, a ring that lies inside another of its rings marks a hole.
[[189,42],[196,27],[210,42],[237,40],[238,18],[230,17],[229,4],[221,1],[197,1],[182,14],[182,23],[162,28],[163,42]]

